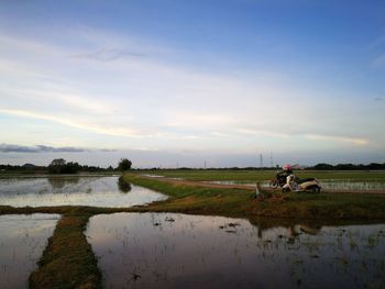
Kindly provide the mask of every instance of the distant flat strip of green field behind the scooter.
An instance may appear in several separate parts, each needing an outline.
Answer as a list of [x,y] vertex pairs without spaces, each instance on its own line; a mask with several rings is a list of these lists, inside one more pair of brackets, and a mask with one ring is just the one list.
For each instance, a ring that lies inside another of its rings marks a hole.
[[[138,174],[157,175],[187,180],[270,180],[275,170],[235,170],[235,169],[157,169],[138,170]],[[385,181],[384,170],[295,170],[299,178],[341,179],[355,181]]]

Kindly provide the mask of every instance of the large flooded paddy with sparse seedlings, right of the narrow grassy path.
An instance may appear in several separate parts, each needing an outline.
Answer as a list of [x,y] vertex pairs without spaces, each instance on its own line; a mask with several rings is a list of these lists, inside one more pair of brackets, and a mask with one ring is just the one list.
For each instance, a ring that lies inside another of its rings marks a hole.
[[385,224],[270,227],[221,216],[116,213],[87,237],[106,288],[384,288]]

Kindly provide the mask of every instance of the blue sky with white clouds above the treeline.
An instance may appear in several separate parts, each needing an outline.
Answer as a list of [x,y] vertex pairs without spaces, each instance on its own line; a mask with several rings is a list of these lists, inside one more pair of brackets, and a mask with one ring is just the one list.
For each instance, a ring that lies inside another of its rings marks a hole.
[[385,2],[0,0],[0,164],[385,163]]

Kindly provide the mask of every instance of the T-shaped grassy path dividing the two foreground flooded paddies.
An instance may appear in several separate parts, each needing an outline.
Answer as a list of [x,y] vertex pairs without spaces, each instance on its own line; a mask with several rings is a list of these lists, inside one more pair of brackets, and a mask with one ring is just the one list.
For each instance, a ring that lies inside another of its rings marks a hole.
[[0,214],[57,213],[62,214],[53,236],[38,260],[38,268],[30,275],[30,288],[101,288],[101,273],[97,258],[84,234],[94,214],[113,213],[130,209],[91,207],[13,208],[0,205]]

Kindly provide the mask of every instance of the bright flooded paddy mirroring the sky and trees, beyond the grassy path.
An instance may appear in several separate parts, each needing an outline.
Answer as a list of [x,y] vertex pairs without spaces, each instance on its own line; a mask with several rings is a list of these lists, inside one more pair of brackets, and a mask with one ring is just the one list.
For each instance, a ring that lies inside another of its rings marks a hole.
[[0,204],[130,207],[166,198],[162,193],[136,186],[131,186],[131,190],[120,190],[118,179],[118,177],[0,179]]

